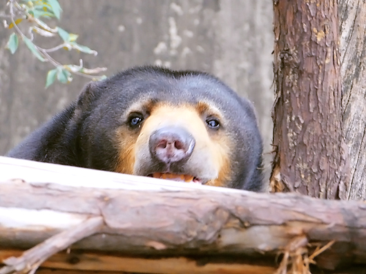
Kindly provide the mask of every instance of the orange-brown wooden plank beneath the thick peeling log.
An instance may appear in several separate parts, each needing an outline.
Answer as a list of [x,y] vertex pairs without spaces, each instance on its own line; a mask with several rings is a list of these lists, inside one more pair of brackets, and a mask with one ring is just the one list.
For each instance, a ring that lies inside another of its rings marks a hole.
[[[21,251],[0,251],[0,260],[6,257],[19,256]],[[258,264],[258,260],[254,260]],[[274,261],[273,261],[274,263]],[[53,255],[42,264],[42,268],[56,268],[59,270],[75,271],[103,271],[111,273],[168,273],[168,274],[272,274],[275,266],[250,264],[248,260],[227,260],[215,262],[213,257],[203,257],[198,260],[186,257],[124,257],[117,255],[103,255],[97,253],[59,253]],[[46,271],[44,269],[43,271]],[[38,271],[37,271],[38,273]],[[40,271],[42,273],[42,271]],[[47,272],[46,272],[47,273]],[[52,272],[53,273],[53,272]]]

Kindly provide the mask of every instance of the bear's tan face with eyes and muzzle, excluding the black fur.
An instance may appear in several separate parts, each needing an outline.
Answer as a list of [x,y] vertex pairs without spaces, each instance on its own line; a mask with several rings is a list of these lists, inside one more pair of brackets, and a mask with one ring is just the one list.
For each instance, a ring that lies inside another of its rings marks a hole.
[[215,186],[230,181],[231,142],[211,104],[151,99],[135,103],[125,120],[116,171]]

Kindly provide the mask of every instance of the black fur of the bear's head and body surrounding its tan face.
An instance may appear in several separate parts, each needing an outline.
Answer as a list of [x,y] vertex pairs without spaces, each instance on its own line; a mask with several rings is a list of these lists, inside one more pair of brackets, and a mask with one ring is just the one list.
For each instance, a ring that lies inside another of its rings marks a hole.
[[30,134],[8,156],[113,171],[118,155],[113,134],[126,123],[126,109],[140,98],[173,104],[209,99],[229,121],[225,130],[235,143],[231,187],[262,189],[262,139],[251,103],[202,72],[146,66],[89,83],[77,101]]

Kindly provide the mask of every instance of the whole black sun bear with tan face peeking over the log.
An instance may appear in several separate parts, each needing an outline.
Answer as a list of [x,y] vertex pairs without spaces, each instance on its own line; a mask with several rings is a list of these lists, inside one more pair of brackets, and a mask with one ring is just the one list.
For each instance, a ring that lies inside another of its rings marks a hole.
[[8,156],[260,191],[251,103],[215,76],[135,67],[90,82]]

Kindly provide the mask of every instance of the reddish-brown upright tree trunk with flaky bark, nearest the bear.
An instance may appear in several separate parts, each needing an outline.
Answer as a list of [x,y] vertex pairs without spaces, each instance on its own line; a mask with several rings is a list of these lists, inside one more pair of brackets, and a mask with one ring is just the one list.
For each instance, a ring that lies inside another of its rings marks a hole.
[[271,185],[318,198],[347,198],[336,1],[274,2]]

